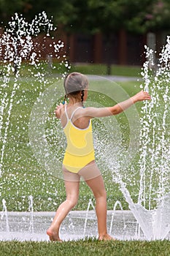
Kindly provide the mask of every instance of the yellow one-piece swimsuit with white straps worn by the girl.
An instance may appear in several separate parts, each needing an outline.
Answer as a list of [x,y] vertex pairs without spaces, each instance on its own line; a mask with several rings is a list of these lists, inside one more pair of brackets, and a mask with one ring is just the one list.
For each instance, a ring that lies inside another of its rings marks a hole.
[[89,162],[95,159],[91,121],[89,121],[89,125],[85,129],[75,127],[72,123],[74,113],[79,108],[82,107],[76,108],[71,118],[69,118],[65,106],[67,123],[63,127],[63,131],[66,135],[67,147],[63,158],[63,165],[72,173],[78,173],[82,167],[85,167],[85,165],[88,165]]

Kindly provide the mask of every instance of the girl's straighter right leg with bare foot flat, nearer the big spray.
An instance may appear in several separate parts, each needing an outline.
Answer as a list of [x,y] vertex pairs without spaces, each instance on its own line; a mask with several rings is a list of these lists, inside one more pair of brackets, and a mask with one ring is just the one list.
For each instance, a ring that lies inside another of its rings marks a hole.
[[107,233],[107,193],[102,176],[85,181],[96,199],[96,215],[98,219],[98,239],[115,240]]

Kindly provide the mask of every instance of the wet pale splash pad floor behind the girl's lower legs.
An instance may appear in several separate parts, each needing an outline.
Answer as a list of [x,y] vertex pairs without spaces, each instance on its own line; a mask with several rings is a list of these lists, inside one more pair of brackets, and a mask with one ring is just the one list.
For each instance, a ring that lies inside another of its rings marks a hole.
[[[117,207],[118,206],[118,207]],[[92,208],[92,210],[91,210]],[[117,210],[117,208],[121,208]],[[5,207],[4,207],[5,209]],[[49,241],[46,235],[55,212],[1,212],[0,241]],[[119,240],[145,240],[139,223],[131,211],[123,211],[117,201],[112,211],[107,211],[107,229],[110,235]],[[63,241],[97,238],[97,219],[91,200],[87,211],[71,211],[61,225]],[[166,236],[169,239],[170,236]]]

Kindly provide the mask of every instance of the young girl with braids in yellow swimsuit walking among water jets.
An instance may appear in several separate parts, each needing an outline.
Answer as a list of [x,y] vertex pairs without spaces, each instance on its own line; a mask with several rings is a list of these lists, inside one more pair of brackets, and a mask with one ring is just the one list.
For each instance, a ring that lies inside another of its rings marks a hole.
[[[103,178],[95,162],[91,118],[117,115],[135,102],[150,99],[150,95],[145,91],[140,91],[113,107],[84,108],[83,104],[88,97],[88,79],[85,75],[73,72],[66,76],[63,86],[66,91],[65,99],[63,104],[57,106],[55,116],[61,119],[67,139],[63,159],[66,200],[58,207],[53,222],[47,230],[47,235],[51,241],[61,241],[59,229],[63,219],[77,204],[82,176],[96,199],[98,239],[114,240],[107,233],[107,194]],[[68,104],[66,104],[67,97]]]

